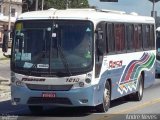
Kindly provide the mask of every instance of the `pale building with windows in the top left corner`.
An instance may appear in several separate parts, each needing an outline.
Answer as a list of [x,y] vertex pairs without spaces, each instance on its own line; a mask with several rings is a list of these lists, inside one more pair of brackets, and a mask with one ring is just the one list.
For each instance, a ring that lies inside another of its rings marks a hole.
[[0,0],[0,44],[3,42],[4,26],[9,28],[10,24],[12,28],[17,16],[21,13],[22,0]]

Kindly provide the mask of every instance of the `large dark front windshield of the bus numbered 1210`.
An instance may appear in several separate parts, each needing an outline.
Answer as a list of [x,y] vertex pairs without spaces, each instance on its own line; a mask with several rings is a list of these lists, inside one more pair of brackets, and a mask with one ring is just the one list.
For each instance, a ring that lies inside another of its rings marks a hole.
[[11,69],[40,76],[89,71],[93,65],[93,33],[90,21],[17,21]]

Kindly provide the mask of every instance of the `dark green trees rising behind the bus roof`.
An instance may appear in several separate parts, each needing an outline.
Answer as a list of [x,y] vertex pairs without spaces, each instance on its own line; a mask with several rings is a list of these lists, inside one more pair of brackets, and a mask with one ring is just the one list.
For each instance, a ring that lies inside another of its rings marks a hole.
[[[36,0],[22,0],[22,12],[35,10]],[[67,0],[44,0],[43,9],[66,9]],[[42,0],[38,0],[38,9],[42,8]],[[68,0],[69,8],[89,8],[88,0]]]

